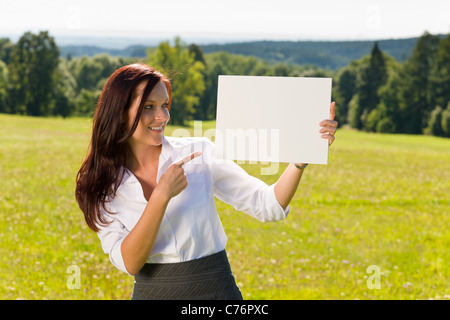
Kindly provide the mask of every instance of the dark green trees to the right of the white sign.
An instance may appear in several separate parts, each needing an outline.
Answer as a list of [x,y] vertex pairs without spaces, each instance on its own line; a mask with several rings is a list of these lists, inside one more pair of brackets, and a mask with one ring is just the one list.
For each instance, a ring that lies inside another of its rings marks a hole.
[[336,78],[340,118],[351,127],[450,137],[450,34],[424,33],[401,64],[375,43]]

